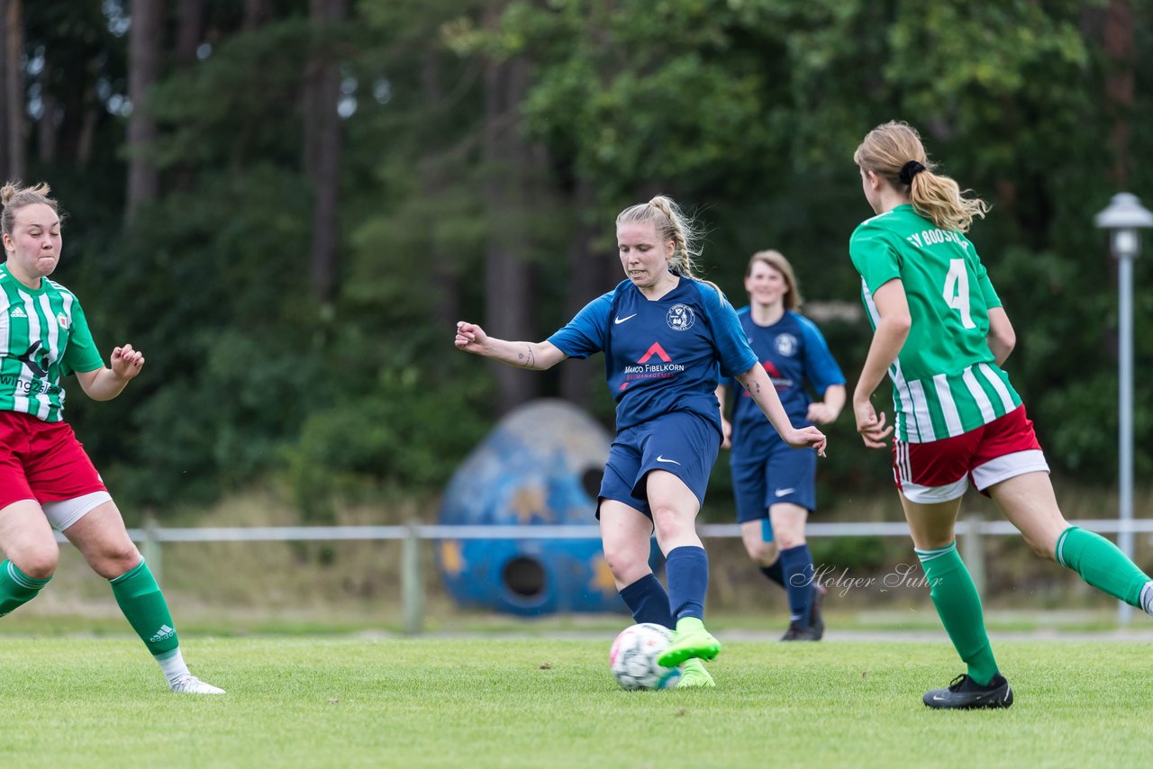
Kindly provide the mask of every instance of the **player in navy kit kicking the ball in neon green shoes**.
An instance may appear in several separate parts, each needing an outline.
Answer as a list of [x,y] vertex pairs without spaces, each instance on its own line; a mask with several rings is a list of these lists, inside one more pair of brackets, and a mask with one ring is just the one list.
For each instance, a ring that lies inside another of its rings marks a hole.
[[[704,628],[708,558],[696,514],[721,446],[717,369],[748,390],[785,443],[824,453],[814,427],[793,428],[721,291],[694,277],[691,223],[668,197],[617,217],[626,280],[589,302],[542,342],[505,341],[458,323],[459,349],[525,369],[603,350],[617,401],[617,437],[597,495],[604,557],[638,623],[673,627],[662,665],[685,664],[678,686],[714,686],[698,659],[721,644]],[[653,533],[665,555],[669,589],[649,568]]]

